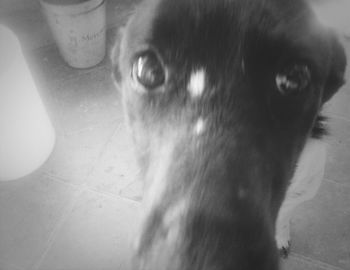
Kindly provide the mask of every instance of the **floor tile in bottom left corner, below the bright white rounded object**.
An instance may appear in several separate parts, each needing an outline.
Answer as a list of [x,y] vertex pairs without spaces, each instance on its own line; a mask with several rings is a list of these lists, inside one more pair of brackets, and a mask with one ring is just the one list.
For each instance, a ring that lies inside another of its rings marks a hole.
[[42,173],[0,182],[0,269],[31,269],[75,191]]

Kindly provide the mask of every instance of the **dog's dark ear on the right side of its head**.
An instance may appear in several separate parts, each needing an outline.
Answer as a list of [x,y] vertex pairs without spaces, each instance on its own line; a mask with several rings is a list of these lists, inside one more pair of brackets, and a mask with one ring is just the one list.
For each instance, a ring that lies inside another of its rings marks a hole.
[[333,31],[329,31],[329,36],[331,44],[331,61],[324,87],[323,103],[328,101],[345,83],[344,73],[346,67],[346,56],[344,47],[340,44]]

